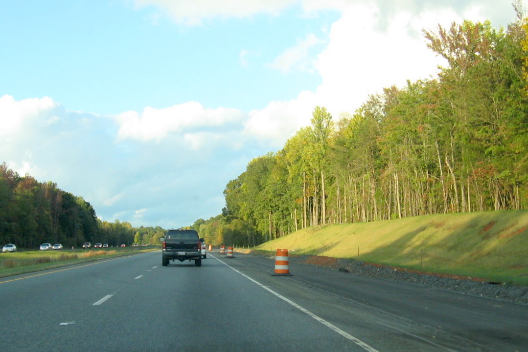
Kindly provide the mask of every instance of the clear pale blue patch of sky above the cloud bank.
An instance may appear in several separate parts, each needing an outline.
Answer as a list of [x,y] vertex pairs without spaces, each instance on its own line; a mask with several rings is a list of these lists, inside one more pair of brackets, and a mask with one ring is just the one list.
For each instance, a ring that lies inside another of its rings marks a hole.
[[[189,27],[157,17],[152,6],[135,10],[119,0],[30,3],[10,2],[2,11],[0,29],[16,34],[4,46],[16,49],[4,56],[7,67],[16,67],[5,72],[11,95],[51,96],[99,114],[188,101],[262,109],[270,97],[289,99],[315,89],[316,72],[291,72],[286,80],[268,65],[307,32],[323,37],[320,32],[339,15],[328,10],[302,17],[297,4],[280,16],[256,13]],[[313,54],[323,48],[320,43]]]

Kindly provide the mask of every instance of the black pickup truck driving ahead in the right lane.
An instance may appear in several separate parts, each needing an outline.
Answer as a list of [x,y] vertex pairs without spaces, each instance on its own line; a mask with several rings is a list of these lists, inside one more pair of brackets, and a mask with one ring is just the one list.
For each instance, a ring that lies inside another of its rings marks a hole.
[[169,260],[194,260],[194,265],[202,266],[202,241],[195,230],[168,230],[163,239],[162,265]]

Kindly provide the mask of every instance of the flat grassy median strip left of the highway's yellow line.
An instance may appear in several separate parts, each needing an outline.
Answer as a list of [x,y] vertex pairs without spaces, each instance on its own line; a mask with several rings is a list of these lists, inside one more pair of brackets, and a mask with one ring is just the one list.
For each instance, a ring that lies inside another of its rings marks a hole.
[[53,269],[68,265],[128,256],[140,252],[156,250],[149,247],[139,249],[135,247],[116,249],[76,249],[61,251],[24,251],[0,253],[0,278],[22,273]]

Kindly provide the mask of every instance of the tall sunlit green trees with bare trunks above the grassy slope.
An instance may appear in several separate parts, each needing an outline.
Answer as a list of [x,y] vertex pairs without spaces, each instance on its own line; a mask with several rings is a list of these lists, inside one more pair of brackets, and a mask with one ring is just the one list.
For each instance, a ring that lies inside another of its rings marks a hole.
[[424,31],[438,77],[371,95],[337,121],[315,107],[284,148],[224,189],[193,224],[253,245],[308,226],[528,206],[528,24],[464,21]]

